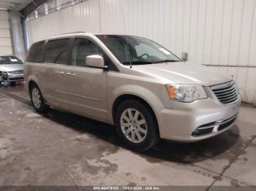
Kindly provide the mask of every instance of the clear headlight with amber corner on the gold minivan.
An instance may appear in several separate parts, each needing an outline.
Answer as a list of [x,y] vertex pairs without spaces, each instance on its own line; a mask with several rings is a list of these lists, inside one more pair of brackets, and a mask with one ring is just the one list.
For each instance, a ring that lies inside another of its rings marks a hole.
[[207,98],[206,91],[200,85],[166,85],[170,99],[182,102],[192,102]]

